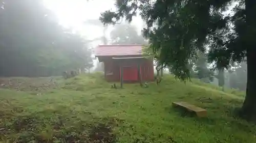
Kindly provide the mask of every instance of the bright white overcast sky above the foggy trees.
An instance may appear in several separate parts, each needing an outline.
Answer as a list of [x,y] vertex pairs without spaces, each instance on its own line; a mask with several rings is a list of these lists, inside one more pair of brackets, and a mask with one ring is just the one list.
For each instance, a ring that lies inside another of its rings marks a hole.
[[[106,10],[115,10],[113,0],[44,0],[47,8],[51,9],[58,17],[62,26],[70,27],[75,32],[94,39],[102,36],[103,28],[84,24],[87,19],[98,19],[100,13]],[[132,22],[138,32],[142,29],[142,20],[137,17]],[[112,26],[109,26],[109,31]]]

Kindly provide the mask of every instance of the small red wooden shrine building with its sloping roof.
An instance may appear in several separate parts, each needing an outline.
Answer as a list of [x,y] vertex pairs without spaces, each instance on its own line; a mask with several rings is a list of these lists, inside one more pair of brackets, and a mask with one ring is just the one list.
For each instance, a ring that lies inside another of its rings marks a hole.
[[142,45],[99,45],[95,57],[104,63],[107,81],[153,81],[153,59],[142,56]]

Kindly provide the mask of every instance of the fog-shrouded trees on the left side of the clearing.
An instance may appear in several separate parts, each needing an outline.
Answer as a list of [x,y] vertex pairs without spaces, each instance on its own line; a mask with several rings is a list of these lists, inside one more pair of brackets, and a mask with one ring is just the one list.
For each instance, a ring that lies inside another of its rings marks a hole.
[[63,29],[42,1],[3,1],[0,9],[0,76],[50,76],[91,68],[91,51]]

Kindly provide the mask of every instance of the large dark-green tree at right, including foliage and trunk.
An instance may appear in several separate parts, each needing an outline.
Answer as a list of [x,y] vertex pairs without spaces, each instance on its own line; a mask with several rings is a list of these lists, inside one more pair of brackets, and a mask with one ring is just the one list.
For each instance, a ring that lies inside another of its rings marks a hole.
[[[234,15],[224,15],[232,2],[239,2],[233,9]],[[116,8],[116,12],[101,14],[103,24],[115,24],[122,17],[131,21],[139,10],[147,24],[144,36],[153,51],[161,51],[160,64],[169,66],[179,79],[190,77],[189,60],[196,57],[198,51],[207,52],[208,61],[221,69],[219,71],[246,58],[247,96],[241,116],[256,119],[256,1],[118,0]]]

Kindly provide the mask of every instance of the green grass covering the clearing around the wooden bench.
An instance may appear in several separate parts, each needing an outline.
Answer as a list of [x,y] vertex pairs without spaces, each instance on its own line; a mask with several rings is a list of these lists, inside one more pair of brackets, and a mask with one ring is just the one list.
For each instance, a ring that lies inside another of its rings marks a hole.
[[[256,142],[255,125],[235,116],[241,93],[198,80],[165,75],[158,86],[111,89],[90,74],[58,83],[40,94],[0,90],[2,142]],[[208,117],[187,115],[174,101],[205,108]]]

